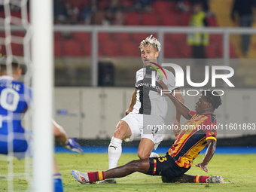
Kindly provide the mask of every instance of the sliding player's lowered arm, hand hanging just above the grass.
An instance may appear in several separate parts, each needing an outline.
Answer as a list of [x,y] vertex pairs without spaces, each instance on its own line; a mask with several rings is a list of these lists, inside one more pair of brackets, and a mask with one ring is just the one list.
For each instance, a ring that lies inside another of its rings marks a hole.
[[206,150],[206,155],[203,158],[202,163],[198,163],[196,166],[200,167],[203,169],[205,172],[208,172],[208,163],[212,159],[213,154],[215,154],[215,149],[216,149],[216,140],[215,139],[207,139],[207,145],[208,148]]

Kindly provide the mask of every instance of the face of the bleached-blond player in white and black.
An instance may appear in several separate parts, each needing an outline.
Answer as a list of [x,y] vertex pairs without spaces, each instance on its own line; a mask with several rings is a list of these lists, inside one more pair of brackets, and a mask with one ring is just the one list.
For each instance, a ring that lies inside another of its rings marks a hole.
[[158,51],[154,47],[144,47],[141,49],[142,61],[145,66],[151,66],[150,62],[157,62]]

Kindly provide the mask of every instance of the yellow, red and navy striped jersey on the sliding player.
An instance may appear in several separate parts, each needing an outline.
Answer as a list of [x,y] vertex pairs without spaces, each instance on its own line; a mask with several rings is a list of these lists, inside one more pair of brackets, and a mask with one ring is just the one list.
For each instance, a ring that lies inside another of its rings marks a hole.
[[216,118],[213,113],[189,112],[190,120],[181,126],[181,131],[169,148],[168,154],[175,163],[184,168],[192,166],[193,160],[206,147],[207,139],[216,139]]

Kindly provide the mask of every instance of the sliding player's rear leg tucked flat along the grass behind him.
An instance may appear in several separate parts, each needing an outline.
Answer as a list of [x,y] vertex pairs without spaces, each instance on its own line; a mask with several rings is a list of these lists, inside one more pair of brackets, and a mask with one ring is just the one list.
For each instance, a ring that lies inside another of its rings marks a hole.
[[168,179],[162,176],[163,183],[224,183],[224,178],[221,175],[218,176],[203,176],[203,175],[181,175],[178,178]]

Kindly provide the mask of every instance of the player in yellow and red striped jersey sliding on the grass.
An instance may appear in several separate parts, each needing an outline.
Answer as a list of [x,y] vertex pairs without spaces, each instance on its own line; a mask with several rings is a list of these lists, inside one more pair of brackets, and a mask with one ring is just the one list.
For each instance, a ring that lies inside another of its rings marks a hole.
[[[159,82],[164,90],[167,90],[163,81]],[[208,145],[206,155],[202,163],[196,166],[208,172],[208,163],[212,159],[216,148],[216,118],[214,111],[221,105],[221,97],[212,90],[203,90],[198,99],[195,111],[190,111],[182,102],[172,95],[165,93],[174,103],[175,107],[187,122],[181,127],[176,136],[175,143],[164,157],[149,157],[141,160],[133,160],[124,166],[108,169],[101,172],[78,172],[72,170],[72,175],[81,184],[101,181],[105,178],[120,178],[133,172],[142,172],[147,175],[162,175],[163,182],[187,182],[187,183],[222,183],[221,176],[202,176],[184,174],[192,166],[193,160],[200,151]],[[182,129],[183,128],[183,129]]]

